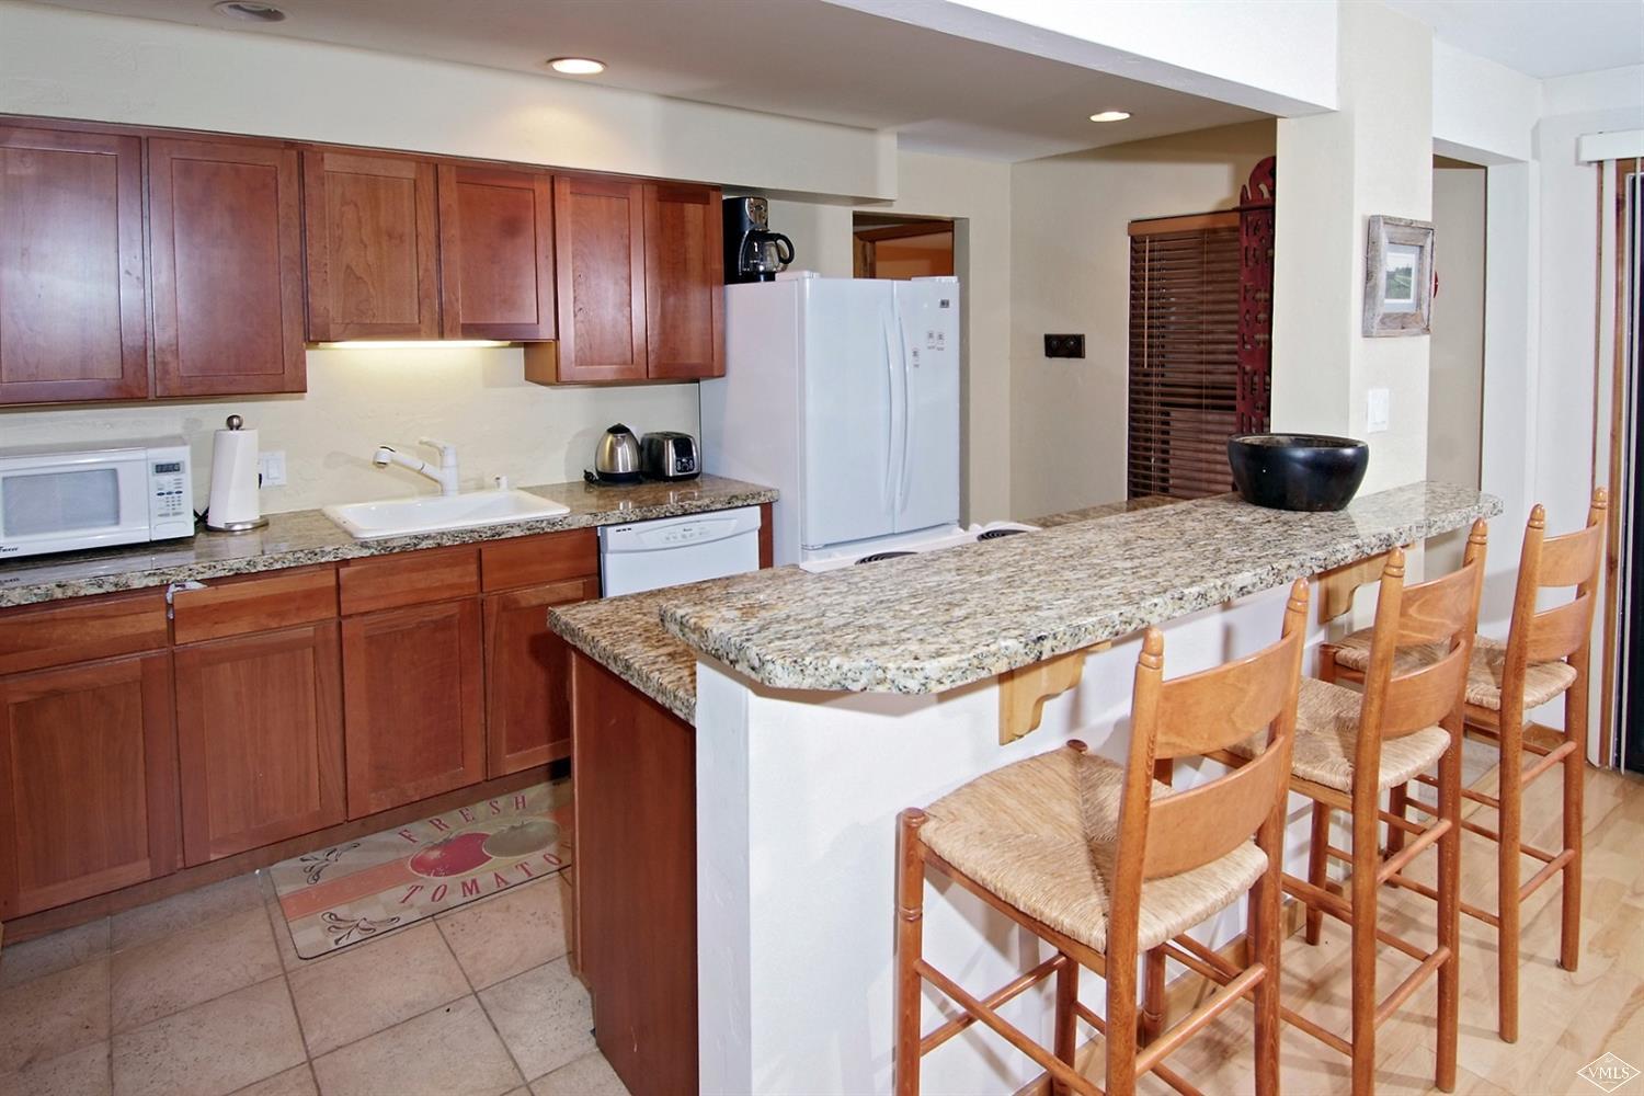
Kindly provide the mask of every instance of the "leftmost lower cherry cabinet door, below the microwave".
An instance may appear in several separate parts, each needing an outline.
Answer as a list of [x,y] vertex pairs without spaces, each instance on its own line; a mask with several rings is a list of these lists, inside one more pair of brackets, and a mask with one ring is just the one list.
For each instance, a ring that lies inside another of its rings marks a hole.
[[171,656],[0,677],[0,917],[176,868]]

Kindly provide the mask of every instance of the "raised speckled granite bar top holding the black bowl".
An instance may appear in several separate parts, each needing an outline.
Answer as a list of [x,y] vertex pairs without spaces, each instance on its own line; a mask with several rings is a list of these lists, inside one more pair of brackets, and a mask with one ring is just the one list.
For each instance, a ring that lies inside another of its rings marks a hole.
[[1323,514],[1223,495],[820,575],[659,600],[666,629],[774,688],[935,693],[1501,513],[1445,483]]

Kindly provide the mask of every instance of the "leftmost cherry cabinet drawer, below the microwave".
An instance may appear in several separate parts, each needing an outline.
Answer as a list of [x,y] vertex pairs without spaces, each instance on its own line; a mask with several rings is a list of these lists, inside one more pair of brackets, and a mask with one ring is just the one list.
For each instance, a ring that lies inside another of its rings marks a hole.
[[0,613],[0,674],[166,646],[166,595],[145,590]]

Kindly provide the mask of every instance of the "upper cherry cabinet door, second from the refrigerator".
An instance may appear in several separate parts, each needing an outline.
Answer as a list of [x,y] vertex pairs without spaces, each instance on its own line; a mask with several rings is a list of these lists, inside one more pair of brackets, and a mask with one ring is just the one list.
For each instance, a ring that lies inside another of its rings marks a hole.
[[554,177],[559,380],[643,381],[644,184]]

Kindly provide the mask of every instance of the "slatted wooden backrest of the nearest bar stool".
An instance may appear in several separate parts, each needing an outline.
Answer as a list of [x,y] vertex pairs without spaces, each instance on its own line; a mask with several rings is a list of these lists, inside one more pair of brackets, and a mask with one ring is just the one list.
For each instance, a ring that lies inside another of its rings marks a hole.
[[[1128,892],[1126,882],[1136,892],[1143,879],[1208,864],[1282,815],[1305,634],[1307,582],[1300,578],[1291,588],[1279,642],[1246,659],[1167,682],[1164,636],[1148,629],[1136,662],[1116,900]],[[1192,790],[1152,799],[1157,762],[1221,751],[1261,733],[1268,748],[1256,759]]]

